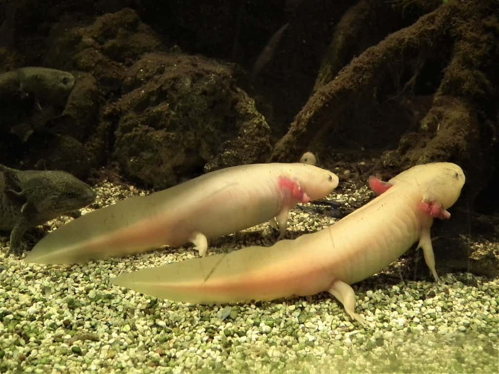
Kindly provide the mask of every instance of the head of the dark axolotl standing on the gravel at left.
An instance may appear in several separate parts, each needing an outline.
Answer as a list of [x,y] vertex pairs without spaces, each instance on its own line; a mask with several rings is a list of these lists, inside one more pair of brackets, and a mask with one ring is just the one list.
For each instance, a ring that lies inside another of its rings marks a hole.
[[95,200],[90,186],[66,172],[27,170],[17,177],[24,200],[21,212],[35,224],[59,215],[77,217],[79,208]]

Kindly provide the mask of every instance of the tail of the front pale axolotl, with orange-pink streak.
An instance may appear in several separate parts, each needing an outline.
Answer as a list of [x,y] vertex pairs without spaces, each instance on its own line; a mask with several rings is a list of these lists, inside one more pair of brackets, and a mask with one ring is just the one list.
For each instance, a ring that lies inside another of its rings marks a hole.
[[122,274],[112,283],[146,295],[196,304],[273,300],[326,290],[331,279],[317,272],[320,261],[314,266],[310,263],[313,258],[303,258],[303,252],[297,250],[299,239],[142,269]]

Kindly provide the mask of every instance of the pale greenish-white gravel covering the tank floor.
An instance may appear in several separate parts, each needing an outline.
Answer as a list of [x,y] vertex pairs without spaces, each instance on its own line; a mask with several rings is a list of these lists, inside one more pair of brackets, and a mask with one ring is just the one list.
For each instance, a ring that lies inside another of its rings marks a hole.
[[[146,193],[108,182],[96,190],[93,208]],[[344,214],[371,196],[366,187],[343,184],[328,198],[341,202]],[[338,216],[327,205],[298,206],[288,237],[319,230]],[[29,231],[24,248],[41,235]],[[276,237],[263,224],[213,240],[209,252],[271,245]],[[6,256],[7,237],[0,240],[0,373],[499,372],[499,279],[455,273],[441,274],[441,284],[430,277],[413,281],[402,262],[393,264],[354,285],[356,311],[370,325],[364,328],[327,293],[198,306],[109,282],[122,272],[192,258],[191,245],[39,266]]]

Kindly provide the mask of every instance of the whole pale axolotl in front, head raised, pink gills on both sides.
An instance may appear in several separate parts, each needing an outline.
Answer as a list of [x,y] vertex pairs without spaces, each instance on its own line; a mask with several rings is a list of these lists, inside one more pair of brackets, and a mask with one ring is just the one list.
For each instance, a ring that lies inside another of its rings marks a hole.
[[212,304],[274,300],[328,291],[361,324],[350,284],[379,272],[419,239],[438,281],[430,238],[433,218],[461,194],[463,170],[451,163],[415,166],[388,183],[371,177],[380,193],[332,226],[271,247],[251,246],[229,254],[196,258],[125,273],[119,286],[174,301]]

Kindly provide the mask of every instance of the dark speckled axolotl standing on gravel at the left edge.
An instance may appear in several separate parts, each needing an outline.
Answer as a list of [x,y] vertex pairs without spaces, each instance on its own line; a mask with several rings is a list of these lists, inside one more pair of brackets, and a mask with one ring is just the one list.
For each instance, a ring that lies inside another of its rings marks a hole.
[[0,230],[11,230],[10,250],[18,253],[28,228],[60,215],[79,217],[79,208],[93,202],[95,192],[66,172],[0,165],[0,198]]

